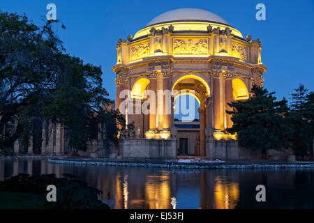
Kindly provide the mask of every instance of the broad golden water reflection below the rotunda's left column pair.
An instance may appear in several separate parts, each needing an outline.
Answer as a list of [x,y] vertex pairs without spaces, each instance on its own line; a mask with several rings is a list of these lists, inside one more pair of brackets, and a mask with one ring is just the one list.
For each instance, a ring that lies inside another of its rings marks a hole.
[[149,209],[170,208],[170,178],[166,171],[162,171],[161,174],[161,176],[147,176],[145,195]]

